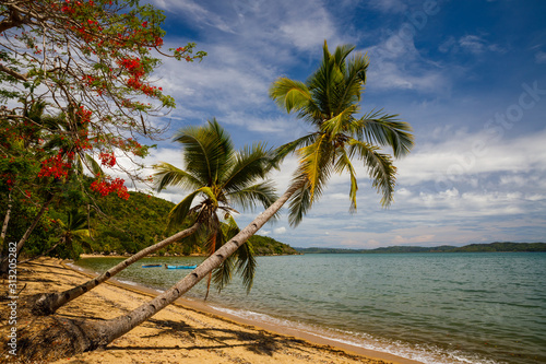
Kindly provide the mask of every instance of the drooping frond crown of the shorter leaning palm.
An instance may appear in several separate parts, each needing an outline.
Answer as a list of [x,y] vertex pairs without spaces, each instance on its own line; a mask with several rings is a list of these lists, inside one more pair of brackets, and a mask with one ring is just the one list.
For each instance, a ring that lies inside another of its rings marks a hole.
[[[177,186],[190,193],[170,211],[169,227],[187,219],[201,222],[203,230],[192,239],[204,235],[205,249],[212,255],[238,232],[233,219],[233,213],[237,213],[235,206],[247,210],[261,203],[268,208],[277,199],[272,183],[263,180],[274,164],[273,153],[261,143],[235,150],[216,119],[202,127],[183,128],[174,140],[182,145],[185,167],[156,165],[157,190]],[[229,281],[232,269],[237,267],[250,290],[256,260],[248,242],[237,250],[236,258],[237,261],[227,259],[215,271],[218,289]]]

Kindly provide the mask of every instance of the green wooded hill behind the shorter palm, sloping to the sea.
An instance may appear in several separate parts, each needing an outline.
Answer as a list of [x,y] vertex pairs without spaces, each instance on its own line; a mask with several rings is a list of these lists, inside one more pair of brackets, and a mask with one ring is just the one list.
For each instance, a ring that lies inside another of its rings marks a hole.
[[[168,236],[165,231],[167,215],[175,203],[142,192],[129,192],[126,201],[116,196],[99,199],[100,210],[108,216],[94,214],[94,240],[85,253],[134,254]],[[271,237],[254,235],[250,238],[257,255],[296,255],[290,246]],[[158,255],[201,254],[180,244],[171,244]]]

